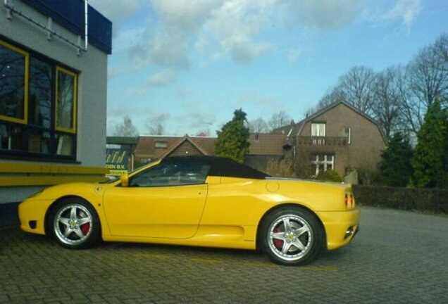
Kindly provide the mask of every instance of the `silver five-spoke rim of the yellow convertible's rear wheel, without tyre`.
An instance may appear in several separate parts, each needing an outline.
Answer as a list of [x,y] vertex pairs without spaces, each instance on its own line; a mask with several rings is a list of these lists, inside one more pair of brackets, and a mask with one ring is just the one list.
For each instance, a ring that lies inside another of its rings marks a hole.
[[313,231],[298,215],[281,215],[268,228],[270,251],[281,260],[300,260],[311,250]]

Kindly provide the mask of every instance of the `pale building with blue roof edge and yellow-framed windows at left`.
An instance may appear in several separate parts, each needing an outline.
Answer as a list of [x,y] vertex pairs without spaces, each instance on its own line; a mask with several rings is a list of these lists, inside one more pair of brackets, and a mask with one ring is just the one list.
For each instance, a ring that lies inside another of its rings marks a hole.
[[82,0],[0,5],[0,204],[104,179],[111,37]]

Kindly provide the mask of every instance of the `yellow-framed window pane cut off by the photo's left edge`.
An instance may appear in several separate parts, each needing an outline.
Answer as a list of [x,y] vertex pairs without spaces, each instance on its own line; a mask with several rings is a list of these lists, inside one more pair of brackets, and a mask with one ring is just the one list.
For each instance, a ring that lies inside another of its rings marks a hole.
[[28,55],[0,41],[0,119],[26,123]]

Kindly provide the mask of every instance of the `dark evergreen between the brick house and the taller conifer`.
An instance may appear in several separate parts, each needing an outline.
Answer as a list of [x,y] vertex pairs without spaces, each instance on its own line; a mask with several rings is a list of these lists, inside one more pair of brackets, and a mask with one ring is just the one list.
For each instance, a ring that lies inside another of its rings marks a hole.
[[404,137],[401,133],[395,133],[381,157],[379,169],[382,184],[407,186],[413,173],[411,164],[413,148],[409,143],[409,138]]

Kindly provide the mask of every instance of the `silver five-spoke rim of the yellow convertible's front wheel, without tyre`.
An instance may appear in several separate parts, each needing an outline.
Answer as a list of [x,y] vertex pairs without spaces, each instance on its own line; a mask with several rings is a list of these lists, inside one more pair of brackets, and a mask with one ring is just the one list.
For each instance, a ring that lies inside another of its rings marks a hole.
[[85,206],[70,203],[56,212],[53,228],[61,243],[78,245],[84,243],[92,233],[92,214]]

